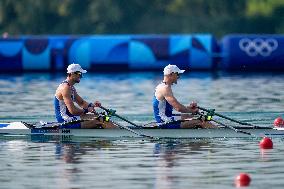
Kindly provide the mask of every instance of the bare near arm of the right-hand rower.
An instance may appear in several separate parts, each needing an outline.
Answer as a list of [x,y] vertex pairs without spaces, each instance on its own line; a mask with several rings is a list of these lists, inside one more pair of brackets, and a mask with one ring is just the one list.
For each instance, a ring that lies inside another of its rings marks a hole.
[[191,109],[182,105],[173,95],[172,89],[170,87],[165,87],[163,89],[164,98],[173,106],[173,108],[181,113],[192,113]]

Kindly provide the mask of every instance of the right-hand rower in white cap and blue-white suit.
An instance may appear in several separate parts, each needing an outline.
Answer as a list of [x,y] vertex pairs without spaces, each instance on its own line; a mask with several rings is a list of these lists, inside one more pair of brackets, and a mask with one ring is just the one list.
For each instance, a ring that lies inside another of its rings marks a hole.
[[[180,74],[185,70],[180,70],[176,65],[168,65],[164,68],[164,79],[156,87],[153,97],[153,110],[155,120],[161,128],[213,128],[215,127],[205,119],[188,119],[190,115],[182,115],[181,121],[176,121],[173,116],[173,109],[180,113],[195,114],[198,112],[197,103],[192,102],[189,106],[181,104],[172,91],[172,85],[177,84]],[[185,120],[188,119],[188,120]]]

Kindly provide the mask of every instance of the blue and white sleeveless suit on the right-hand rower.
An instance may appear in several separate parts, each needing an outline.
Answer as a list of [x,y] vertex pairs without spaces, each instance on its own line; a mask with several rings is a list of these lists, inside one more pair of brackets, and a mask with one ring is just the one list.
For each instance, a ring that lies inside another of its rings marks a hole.
[[[165,85],[165,84],[161,83],[159,85]],[[173,117],[173,106],[170,105],[170,103],[168,103],[166,99],[158,100],[156,95],[154,94],[153,110],[154,110],[155,120],[160,128],[162,129],[180,128],[180,122],[173,123],[175,121]]]

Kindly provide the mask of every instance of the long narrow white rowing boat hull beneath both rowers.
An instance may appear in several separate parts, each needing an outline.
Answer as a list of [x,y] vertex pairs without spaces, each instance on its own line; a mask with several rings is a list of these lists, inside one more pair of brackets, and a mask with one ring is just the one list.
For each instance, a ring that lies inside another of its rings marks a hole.
[[[20,124],[20,123],[18,123]],[[284,129],[272,128],[242,128],[242,132],[236,132],[230,128],[217,129],[134,129],[137,135],[126,129],[57,129],[57,128],[36,128],[28,129],[25,127],[9,128],[9,125],[0,128],[1,136],[24,136],[24,135],[58,135],[75,137],[93,137],[93,138],[126,138],[151,136],[154,138],[244,138],[244,137],[280,137],[284,138]]]

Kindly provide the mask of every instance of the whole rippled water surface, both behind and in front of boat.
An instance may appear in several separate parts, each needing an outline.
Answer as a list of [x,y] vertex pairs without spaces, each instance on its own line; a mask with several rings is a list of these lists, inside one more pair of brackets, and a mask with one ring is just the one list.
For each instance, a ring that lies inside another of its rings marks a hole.
[[[54,121],[53,98],[64,75],[0,75],[0,121]],[[174,93],[227,116],[270,126],[284,116],[284,75],[183,75]],[[157,73],[86,74],[77,91],[137,124],[153,121]],[[123,122],[122,122],[123,123]],[[150,141],[0,138],[0,188],[283,188],[284,142],[262,151],[260,139]]]

